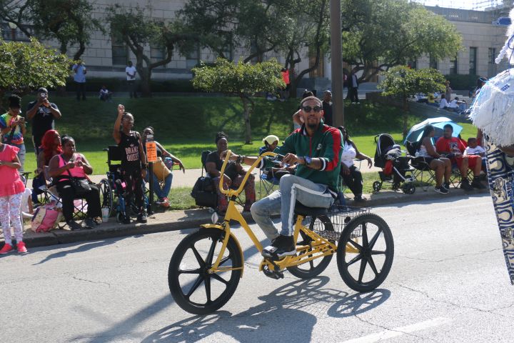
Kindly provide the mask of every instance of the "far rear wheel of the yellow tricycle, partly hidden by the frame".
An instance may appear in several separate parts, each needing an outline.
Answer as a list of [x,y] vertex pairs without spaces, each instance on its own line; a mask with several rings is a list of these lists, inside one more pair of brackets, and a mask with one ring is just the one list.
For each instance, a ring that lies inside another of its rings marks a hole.
[[[318,221],[318,223],[316,223]],[[321,216],[319,218],[314,217],[311,219],[311,224],[309,224],[309,229],[313,231],[316,224],[322,224],[325,231],[333,232],[333,225],[330,222],[330,219],[327,216]],[[311,243],[313,240],[311,237],[308,237],[303,231],[300,231],[300,237],[298,237],[298,241],[296,245],[306,246],[306,249],[298,251],[297,254],[306,254],[311,252],[313,248],[311,247]],[[308,255],[311,257],[312,255]],[[300,279],[311,279],[312,277],[317,277],[319,274],[323,272],[323,270],[328,267],[332,260],[332,255],[328,255],[325,257],[320,257],[318,259],[313,259],[304,264],[300,264],[298,266],[287,267],[288,271],[293,274],[295,277],[299,277]]]

